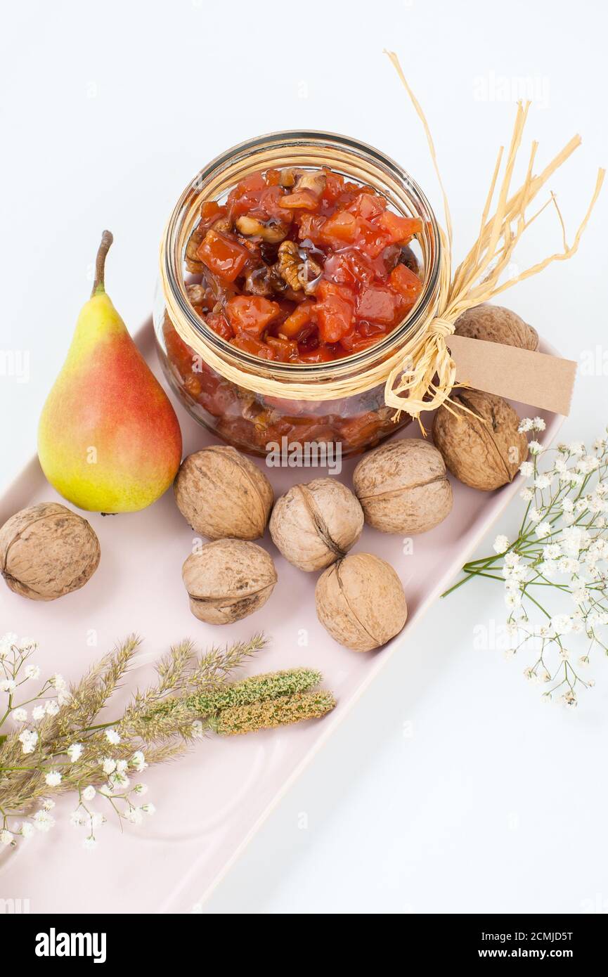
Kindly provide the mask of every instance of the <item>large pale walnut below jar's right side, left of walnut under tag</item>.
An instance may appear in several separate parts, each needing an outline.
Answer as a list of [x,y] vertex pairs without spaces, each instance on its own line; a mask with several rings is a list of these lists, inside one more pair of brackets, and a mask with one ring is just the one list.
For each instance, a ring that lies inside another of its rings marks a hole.
[[426,532],[452,510],[444,459],[419,438],[369,451],[355,469],[353,485],[366,522],[381,532]]

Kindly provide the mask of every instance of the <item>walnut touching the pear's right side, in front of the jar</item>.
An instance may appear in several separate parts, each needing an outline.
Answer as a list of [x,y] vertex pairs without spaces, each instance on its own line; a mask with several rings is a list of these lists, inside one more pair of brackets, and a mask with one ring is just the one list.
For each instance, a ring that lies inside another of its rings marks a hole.
[[184,518],[208,539],[259,539],[275,498],[264,472],[228,446],[189,454],[173,488]]

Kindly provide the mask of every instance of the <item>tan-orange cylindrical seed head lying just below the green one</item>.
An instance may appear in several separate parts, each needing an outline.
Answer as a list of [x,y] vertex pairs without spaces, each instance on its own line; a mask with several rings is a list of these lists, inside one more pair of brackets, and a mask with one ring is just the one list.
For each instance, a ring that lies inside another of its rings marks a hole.
[[212,722],[220,736],[238,736],[257,730],[273,729],[305,719],[319,719],[335,705],[330,692],[298,692],[293,696],[234,705],[223,709]]

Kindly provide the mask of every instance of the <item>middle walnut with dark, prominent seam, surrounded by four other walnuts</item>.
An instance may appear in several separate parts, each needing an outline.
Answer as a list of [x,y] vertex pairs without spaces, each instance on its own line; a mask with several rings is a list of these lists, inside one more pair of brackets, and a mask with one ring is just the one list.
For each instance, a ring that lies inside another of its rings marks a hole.
[[270,534],[285,560],[314,571],[346,556],[363,525],[363,510],[349,488],[334,479],[315,479],[278,499]]

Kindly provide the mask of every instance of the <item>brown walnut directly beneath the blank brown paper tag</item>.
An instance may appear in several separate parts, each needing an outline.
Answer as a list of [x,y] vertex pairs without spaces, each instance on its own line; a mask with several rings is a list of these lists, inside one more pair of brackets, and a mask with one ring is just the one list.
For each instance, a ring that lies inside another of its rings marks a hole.
[[528,454],[528,442],[517,430],[520,419],[513,408],[501,397],[480,390],[458,390],[452,400],[456,410],[443,405],[433,421],[433,441],[452,474],[464,485],[482,491],[512,482]]

